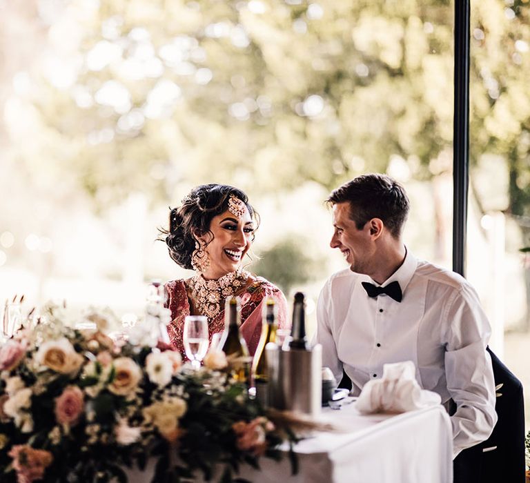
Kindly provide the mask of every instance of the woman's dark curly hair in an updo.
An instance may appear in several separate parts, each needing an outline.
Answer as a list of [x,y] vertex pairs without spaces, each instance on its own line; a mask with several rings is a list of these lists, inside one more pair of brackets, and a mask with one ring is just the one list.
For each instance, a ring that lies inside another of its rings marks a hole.
[[[168,246],[169,256],[182,268],[192,269],[191,255],[195,250],[195,237],[210,233],[212,218],[228,210],[230,195],[244,202],[251,218],[257,223],[259,216],[248,203],[248,197],[242,190],[224,184],[203,184],[197,186],[184,197],[181,206],[170,208],[169,230],[161,230],[162,237]],[[256,226],[257,228],[257,226]]]

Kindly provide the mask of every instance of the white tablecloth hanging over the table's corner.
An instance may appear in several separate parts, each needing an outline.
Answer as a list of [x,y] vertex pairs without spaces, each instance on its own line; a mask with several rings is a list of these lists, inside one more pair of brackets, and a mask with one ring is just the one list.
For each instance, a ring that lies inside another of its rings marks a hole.
[[[353,404],[326,409],[323,419],[340,427],[297,444],[300,471],[291,475],[281,462],[260,460],[262,471],[242,467],[254,483],[451,483],[451,423],[442,406],[400,415],[367,415]],[[148,472],[146,472],[148,473]],[[130,483],[148,483],[151,475],[128,472]],[[202,481],[202,480],[197,480]]]

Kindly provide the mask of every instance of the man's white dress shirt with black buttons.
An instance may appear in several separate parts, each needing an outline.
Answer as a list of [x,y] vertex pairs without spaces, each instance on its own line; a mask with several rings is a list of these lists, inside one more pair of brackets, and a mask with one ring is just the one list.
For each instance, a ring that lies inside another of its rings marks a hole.
[[[361,282],[375,282],[349,268],[332,275],[318,299],[316,342],[322,365],[337,381],[342,368],[354,394],[383,364],[411,360],[420,386],[451,398],[454,456],[487,440],[497,421],[495,382],[486,351],[491,333],[475,290],[460,275],[415,259],[404,262],[382,286],[397,281],[402,302],[371,298]],[[375,284],[378,285],[378,284]]]

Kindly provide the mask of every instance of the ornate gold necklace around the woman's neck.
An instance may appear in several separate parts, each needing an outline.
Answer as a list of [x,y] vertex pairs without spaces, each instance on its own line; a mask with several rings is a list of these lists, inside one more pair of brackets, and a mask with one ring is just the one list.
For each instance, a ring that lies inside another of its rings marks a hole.
[[206,315],[211,322],[221,311],[224,299],[239,292],[248,279],[248,272],[239,268],[217,280],[206,280],[202,274],[191,277],[188,283],[195,309],[200,315]]

